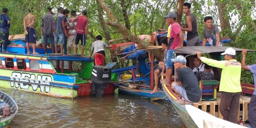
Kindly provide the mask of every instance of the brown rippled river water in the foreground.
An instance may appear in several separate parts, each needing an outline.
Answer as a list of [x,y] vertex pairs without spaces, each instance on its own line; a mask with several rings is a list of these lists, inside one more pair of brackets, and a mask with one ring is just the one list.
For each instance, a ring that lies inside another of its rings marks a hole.
[[18,104],[10,128],[185,128],[167,100],[121,94],[69,100],[17,89],[0,90]]

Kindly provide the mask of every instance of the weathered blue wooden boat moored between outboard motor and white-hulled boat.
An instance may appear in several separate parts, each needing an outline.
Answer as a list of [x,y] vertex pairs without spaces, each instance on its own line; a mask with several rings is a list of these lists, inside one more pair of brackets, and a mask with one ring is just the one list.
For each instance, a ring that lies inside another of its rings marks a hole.
[[[126,45],[126,48],[124,45]],[[117,55],[121,57],[126,56],[126,59],[136,61],[136,65],[112,70],[112,73],[117,73],[120,78],[119,93],[134,95],[151,100],[159,100],[166,97],[163,90],[150,94],[150,92],[153,90],[154,84],[154,66],[158,63],[157,61],[153,61],[153,55],[148,55],[148,52],[144,49],[134,51],[136,46],[133,43],[131,44],[131,42],[115,44],[113,47],[118,49],[119,54]],[[123,50],[120,51],[120,48]],[[146,62],[148,59],[150,61]],[[127,71],[131,71],[131,77],[128,80],[122,80],[121,73]]]

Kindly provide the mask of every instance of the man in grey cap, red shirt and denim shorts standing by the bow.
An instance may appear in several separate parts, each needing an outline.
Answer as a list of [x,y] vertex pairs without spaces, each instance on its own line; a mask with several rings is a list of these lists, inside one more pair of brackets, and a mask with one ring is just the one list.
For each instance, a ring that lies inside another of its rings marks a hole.
[[171,59],[174,58],[174,50],[183,47],[183,33],[181,26],[176,22],[177,15],[173,11],[169,12],[164,18],[167,23],[171,24],[171,33],[167,46],[167,56],[165,61],[166,77],[164,80],[161,80],[161,83],[170,85],[173,75],[173,62]]

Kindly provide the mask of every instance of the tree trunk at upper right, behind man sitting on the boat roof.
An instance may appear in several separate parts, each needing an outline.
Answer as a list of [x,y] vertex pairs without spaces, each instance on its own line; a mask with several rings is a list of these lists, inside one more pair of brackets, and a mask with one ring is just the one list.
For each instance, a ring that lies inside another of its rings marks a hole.
[[232,36],[232,31],[229,23],[229,17],[228,17],[228,9],[225,3],[222,3],[221,0],[217,0],[217,6],[218,6],[218,12],[219,12],[219,21],[220,21],[220,28],[221,33],[224,36],[228,36],[231,39],[234,39]]

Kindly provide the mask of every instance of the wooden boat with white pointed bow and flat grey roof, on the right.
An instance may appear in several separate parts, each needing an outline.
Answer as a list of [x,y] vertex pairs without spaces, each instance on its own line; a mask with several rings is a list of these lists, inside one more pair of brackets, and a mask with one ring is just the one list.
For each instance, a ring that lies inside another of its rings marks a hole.
[[[183,47],[182,49],[175,50],[176,54],[195,55],[196,51],[202,53],[215,53],[220,54],[228,48],[227,46],[215,47],[215,46],[190,46]],[[241,52],[242,49],[234,48],[237,52]],[[256,52],[255,50],[248,50]],[[183,123],[188,128],[244,128],[243,126],[231,123],[223,119],[221,113],[216,111],[215,108],[219,107],[219,97],[217,101],[200,101],[194,104],[185,104],[181,97],[177,95],[170,86],[162,84],[163,90],[169,101],[172,102],[174,109],[177,111]],[[254,91],[254,85],[241,83],[242,92],[245,94],[252,94]],[[240,108],[238,112],[238,121],[241,118],[242,121],[247,120],[248,103],[250,97],[240,96]],[[242,113],[242,114],[240,114]]]

